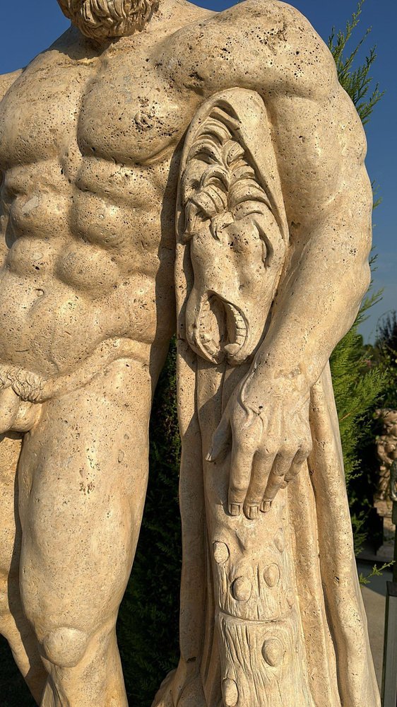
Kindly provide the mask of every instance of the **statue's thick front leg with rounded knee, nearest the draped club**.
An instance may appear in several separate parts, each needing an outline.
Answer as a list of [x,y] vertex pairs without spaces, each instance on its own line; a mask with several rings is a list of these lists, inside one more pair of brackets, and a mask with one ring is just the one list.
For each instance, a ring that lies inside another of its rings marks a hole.
[[148,477],[148,367],[112,363],[53,399],[20,457],[21,594],[49,672],[42,707],[122,707],[115,624]]

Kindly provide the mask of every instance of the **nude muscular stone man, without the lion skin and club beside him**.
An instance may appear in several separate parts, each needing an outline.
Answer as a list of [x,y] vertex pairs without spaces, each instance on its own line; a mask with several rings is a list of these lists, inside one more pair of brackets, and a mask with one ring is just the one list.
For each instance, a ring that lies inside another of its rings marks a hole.
[[59,4],[71,28],[0,77],[1,631],[38,704],[122,707],[115,623],[175,330],[186,129],[215,93],[256,92],[290,231],[245,382],[260,411],[249,435],[232,396],[210,456],[232,435],[233,517],[254,524],[309,455],[309,390],[369,283],[372,198],[357,114],[288,4]]

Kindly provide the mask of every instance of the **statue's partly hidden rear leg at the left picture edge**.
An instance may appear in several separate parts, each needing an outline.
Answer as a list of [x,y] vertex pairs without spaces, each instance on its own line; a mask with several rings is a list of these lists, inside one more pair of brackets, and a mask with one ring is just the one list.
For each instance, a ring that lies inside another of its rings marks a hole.
[[7,639],[20,672],[40,703],[47,672],[35,633],[23,613],[19,590],[20,521],[16,468],[21,442],[19,433],[10,432],[0,437],[0,633]]

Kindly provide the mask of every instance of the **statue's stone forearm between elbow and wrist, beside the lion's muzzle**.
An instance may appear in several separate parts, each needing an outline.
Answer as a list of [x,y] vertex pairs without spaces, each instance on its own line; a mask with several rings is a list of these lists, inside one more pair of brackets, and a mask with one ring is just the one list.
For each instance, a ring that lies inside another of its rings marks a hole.
[[369,247],[368,206],[354,221],[334,202],[311,233],[300,233],[256,357],[266,377],[316,382],[369,286]]

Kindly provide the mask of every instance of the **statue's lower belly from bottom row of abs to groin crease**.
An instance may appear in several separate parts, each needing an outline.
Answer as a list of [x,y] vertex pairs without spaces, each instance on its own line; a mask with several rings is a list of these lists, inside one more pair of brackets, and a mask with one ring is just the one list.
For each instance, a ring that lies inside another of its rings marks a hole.
[[148,358],[156,337],[166,345],[172,333],[171,313],[158,327],[158,279],[158,271],[123,272],[109,252],[73,236],[19,235],[0,271],[0,369],[68,375],[109,339],[141,342],[138,358]]

